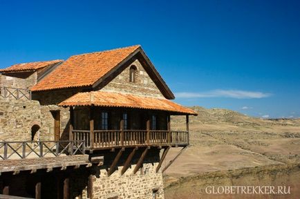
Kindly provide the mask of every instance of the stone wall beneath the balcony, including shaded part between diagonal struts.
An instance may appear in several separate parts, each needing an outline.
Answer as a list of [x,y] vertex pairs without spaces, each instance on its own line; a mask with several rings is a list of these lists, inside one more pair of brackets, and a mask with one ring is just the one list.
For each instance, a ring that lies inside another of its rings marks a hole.
[[[156,198],[164,198],[162,172],[156,173],[156,167],[160,160],[160,149],[151,148],[144,158],[144,163],[139,171],[133,174],[142,149],[135,153],[131,161],[131,167],[121,176],[121,170],[124,161],[128,157],[132,149],[126,149],[122,153],[122,158],[119,160],[116,171],[107,176],[107,169],[111,165],[111,161],[116,153],[110,152],[104,155],[104,166],[93,167],[93,198],[140,198],[151,199],[153,198],[153,191],[156,191]],[[117,151],[117,150],[116,150]],[[86,192],[86,191],[85,191]],[[83,194],[86,196],[86,193]]]

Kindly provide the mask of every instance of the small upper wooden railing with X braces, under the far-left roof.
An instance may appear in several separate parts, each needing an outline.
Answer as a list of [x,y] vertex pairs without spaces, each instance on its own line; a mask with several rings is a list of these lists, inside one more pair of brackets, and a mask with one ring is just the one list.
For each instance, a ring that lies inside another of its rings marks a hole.
[[31,91],[24,88],[0,87],[0,97],[12,99],[31,99]]

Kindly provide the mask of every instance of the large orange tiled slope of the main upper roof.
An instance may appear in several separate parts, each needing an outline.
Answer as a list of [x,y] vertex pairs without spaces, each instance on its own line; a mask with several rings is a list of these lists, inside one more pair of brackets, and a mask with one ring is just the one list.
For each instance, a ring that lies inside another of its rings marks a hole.
[[46,91],[57,88],[92,86],[140,46],[74,55],[31,88]]

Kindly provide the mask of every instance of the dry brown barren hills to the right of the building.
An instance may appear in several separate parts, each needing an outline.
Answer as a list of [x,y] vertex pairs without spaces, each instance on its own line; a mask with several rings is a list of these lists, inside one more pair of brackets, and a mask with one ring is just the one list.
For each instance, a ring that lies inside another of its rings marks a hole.
[[[201,191],[226,185],[291,187],[288,195],[250,198],[300,195],[300,119],[263,120],[226,109],[192,108],[199,115],[190,119],[190,146],[165,171],[166,198],[246,198]],[[185,129],[184,120],[172,117],[171,128]],[[180,150],[171,149],[162,167]]]

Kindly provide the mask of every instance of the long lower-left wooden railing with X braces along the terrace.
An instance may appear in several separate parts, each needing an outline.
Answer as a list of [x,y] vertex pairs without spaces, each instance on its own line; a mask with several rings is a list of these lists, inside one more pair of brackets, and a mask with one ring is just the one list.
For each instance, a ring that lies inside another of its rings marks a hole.
[[0,160],[85,154],[84,140],[0,142]]

